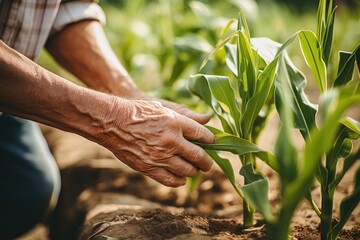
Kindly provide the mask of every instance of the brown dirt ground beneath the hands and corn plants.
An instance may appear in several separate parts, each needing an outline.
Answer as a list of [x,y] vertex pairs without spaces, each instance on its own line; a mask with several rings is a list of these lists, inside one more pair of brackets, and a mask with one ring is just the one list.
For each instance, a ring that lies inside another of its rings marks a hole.
[[[51,239],[266,239],[259,215],[255,215],[254,228],[242,229],[242,199],[217,167],[203,174],[198,191],[189,194],[187,186],[167,188],[134,172],[79,136],[42,129],[62,173],[63,192],[50,224]],[[273,146],[274,129],[262,135],[260,145],[265,149]],[[238,171],[238,160],[230,158]],[[341,182],[335,204],[352,190],[360,163],[356,165]],[[269,197],[276,206],[277,177],[266,166],[260,168],[271,182]],[[318,188],[313,195],[318,202]],[[292,239],[320,239],[319,219],[305,201],[292,222]],[[19,239],[47,240],[48,233],[47,227],[39,225]],[[359,206],[340,239],[360,239]]]

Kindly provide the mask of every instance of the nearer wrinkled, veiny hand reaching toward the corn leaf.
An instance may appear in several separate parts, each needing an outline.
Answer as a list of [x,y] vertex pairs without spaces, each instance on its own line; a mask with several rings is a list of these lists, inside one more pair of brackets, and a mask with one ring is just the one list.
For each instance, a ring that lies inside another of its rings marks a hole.
[[124,101],[125,106],[116,102],[106,118],[105,145],[116,157],[171,187],[184,185],[199,170],[210,170],[209,155],[188,141],[213,143],[207,128],[157,101]]

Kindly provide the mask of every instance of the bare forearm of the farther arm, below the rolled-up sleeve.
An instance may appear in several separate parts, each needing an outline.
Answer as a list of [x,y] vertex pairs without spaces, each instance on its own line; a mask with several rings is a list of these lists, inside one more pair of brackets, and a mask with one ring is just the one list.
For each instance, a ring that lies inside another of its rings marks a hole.
[[128,98],[143,96],[112,51],[99,22],[69,25],[52,37],[46,47],[88,87]]

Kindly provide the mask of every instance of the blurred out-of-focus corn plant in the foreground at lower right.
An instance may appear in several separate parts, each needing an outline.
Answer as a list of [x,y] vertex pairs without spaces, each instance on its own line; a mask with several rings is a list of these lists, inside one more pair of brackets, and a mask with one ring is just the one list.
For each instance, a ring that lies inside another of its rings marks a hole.
[[[304,151],[298,154],[293,143],[292,128],[296,125],[294,109],[297,109],[297,100],[294,97],[294,89],[291,79],[294,78],[289,68],[289,60],[281,57],[278,78],[276,80],[277,95],[276,101],[281,102],[278,108],[281,118],[280,132],[275,145],[276,170],[280,180],[280,204],[274,210],[271,208],[268,199],[268,181],[258,179],[251,184],[240,187],[244,199],[255,208],[266,222],[266,235],[271,240],[289,239],[290,223],[298,203],[310,194],[308,190],[313,183],[314,176],[321,164],[322,156],[333,150],[334,140],[338,138],[339,125],[336,123],[346,121],[343,114],[354,104],[360,102],[359,85],[349,85],[332,89],[321,96],[320,109],[326,113],[319,123],[320,127],[310,128],[308,140],[305,143]],[[335,123],[335,124],[334,124]],[[350,124],[349,124],[350,125]],[[341,126],[343,128],[343,126]],[[356,130],[355,126],[351,126]],[[343,171],[354,163],[359,157],[359,150],[350,155],[349,160],[344,164]],[[346,166],[346,167],[345,167]],[[358,204],[359,200],[359,175],[356,173],[355,190],[342,203],[341,216],[334,228],[343,226],[345,218],[350,216],[351,211]],[[320,210],[317,209],[319,212]],[[321,213],[320,213],[321,214]],[[323,234],[323,233],[322,233]],[[336,239],[332,235],[329,239]]]

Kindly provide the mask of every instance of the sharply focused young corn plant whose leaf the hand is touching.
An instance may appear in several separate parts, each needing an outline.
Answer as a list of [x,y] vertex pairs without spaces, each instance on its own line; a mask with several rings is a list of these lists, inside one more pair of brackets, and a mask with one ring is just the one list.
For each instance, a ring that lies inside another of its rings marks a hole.
[[[235,39],[235,44],[232,40]],[[202,145],[218,163],[242,196],[235,181],[230,162],[221,158],[214,150],[231,151],[242,163],[240,174],[249,184],[262,174],[255,173],[256,158],[273,166],[274,157],[258,148],[256,142],[273,109],[273,89],[277,58],[274,56],[280,44],[267,38],[250,39],[245,17],[241,13],[237,31],[220,41],[212,54],[226,49],[226,64],[230,76],[198,74],[190,79],[190,90],[208,104],[221,121],[224,132],[210,128],[217,143]],[[211,55],[212,55],[211,54]],[[211,56],[210,55],[210,56]],[[205,59],[203,66],[207,63]],[[273,166],[275,167],[275,166]],[[246,172],[253,173],[251,177]],[[245,228],[253,226],[253,209],[244,202]]]

